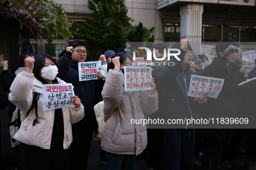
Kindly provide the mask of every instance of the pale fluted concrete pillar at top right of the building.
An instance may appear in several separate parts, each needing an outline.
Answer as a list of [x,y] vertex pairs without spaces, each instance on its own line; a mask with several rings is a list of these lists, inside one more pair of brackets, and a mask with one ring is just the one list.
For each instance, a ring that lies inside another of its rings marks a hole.
[[181,16],[181,39],[188,39],[191,43],[195,54],[199,54],[202,40],[202,14],[204,4],[202,3],[186,3],[180,6]]

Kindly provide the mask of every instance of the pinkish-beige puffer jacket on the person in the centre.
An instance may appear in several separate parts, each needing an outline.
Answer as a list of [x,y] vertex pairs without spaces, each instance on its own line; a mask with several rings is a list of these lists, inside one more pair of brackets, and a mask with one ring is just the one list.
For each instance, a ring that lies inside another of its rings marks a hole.
[[[158,109],[158,94],[154,90],[125,92],[120,69],[110,69],[101,92],[104,100],[105,126],[101,148],[114,154],[140,154],[147,145],[143,124],[131,124],[131,119],[144,119]],[[108,115],[113,110],[112,116]]]

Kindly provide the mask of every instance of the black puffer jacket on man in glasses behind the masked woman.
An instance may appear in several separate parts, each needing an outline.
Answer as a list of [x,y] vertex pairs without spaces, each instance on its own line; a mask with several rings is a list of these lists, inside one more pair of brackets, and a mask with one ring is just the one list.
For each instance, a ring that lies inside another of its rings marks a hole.
[[57,77],[74,86],[75,95],[81,99],[84,105],[84,120],[95,119],[94,105],[98,102],[98,96],[103,88],[103,80],[79,81],[78,62],[72,60],[72,53],[67,51],[58,62]]

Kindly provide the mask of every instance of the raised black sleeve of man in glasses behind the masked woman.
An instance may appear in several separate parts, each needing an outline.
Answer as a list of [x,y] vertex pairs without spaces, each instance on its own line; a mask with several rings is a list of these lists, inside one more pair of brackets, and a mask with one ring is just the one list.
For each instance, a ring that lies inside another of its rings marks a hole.
[[68,76],[69,68],[71,66],[71,61],[72,61],[72,53],[69,51],[66,51],[66,54],[64,54],[64,56],[62,56],[57,62],[57,67],[58,67],[57,77],[62,79],[65,82],[67,82],[67,76]]

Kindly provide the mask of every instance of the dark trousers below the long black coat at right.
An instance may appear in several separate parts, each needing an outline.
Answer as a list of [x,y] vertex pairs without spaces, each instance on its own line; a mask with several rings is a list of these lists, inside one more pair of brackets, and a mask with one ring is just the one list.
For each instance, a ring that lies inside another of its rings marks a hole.
[[225,142],[204,139],[204,157],[201,170],[220,170]]

